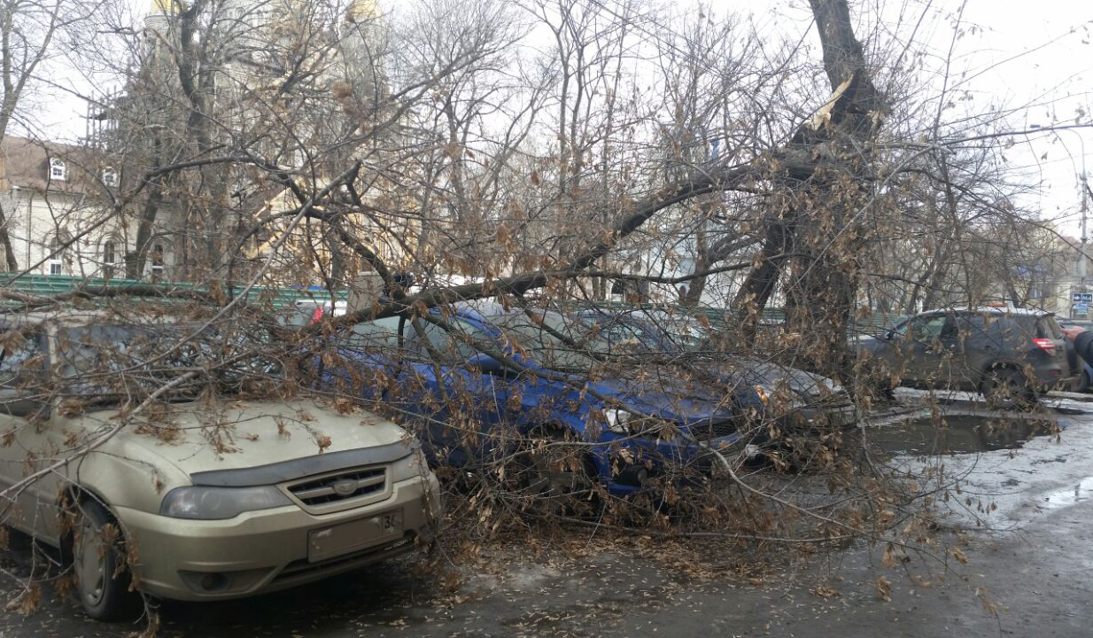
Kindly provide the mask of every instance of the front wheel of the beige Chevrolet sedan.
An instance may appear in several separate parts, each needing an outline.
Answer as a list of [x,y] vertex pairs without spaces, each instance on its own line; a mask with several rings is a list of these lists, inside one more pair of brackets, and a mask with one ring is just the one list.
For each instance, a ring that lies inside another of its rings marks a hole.
[[140,595],[130,591],[121,530],[98,501],[84,499],[80,502],[71,542],[72,571],[77,579],[74,594],[83,611],[98,620],[118,620],[134,615]]

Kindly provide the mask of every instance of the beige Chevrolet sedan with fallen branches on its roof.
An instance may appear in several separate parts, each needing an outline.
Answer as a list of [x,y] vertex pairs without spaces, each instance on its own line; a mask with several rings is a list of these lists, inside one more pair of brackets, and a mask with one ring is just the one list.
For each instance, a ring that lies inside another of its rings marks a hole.
[[[20,486],[3,522],[60,549],[89,615],[116,619],[139,602],[126,549],[141,592],[209,601],[432,538],[438,484],[400,427],[263,393],[283,384],[271,361],[210,372],[246,351],[246,335],[173,347],[198,327],[105,313],[0,317],[0,489]],[[127,425],[154,388],[156,418],[150,409]]]

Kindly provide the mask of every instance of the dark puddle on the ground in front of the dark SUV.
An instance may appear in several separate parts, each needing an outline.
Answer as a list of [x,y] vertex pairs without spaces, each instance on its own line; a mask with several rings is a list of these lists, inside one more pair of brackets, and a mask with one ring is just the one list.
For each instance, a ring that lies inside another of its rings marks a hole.
[[870,428],[868,436],[872,444],[895,454],[972,454],[1020,448],[1058,428],[1043,419],[952,415],[937,421],[917,418]]

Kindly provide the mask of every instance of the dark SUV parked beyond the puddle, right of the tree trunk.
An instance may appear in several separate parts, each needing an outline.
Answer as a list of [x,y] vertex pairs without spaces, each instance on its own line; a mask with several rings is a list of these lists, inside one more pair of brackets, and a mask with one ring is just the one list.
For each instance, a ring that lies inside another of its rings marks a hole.
[[924,312],[860,341],[859,355],[882,390],[971,390],[1001,408],[1027,407],[1078,372],[1051,313],[1011,308]]

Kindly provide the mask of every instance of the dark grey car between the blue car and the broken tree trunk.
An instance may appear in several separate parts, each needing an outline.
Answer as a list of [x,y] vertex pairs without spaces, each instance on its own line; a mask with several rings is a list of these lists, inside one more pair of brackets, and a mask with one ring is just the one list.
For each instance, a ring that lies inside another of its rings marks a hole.
[[[647,352],[697,369],[707,383],[732,393],[737,405],[756,410],[761,415],[756,420],[778,422],[786,432],[823,426],[844,429],[858,421],[849,395],[826,376],[755,357],[704,352],[708,330],[690,317],[602,310],[585,311],[580,316],[599,328],[609,343],[632,340]],[[772,397],[780,397],[781,405],[772,405]]]

